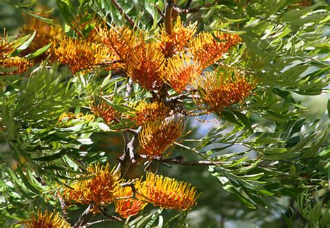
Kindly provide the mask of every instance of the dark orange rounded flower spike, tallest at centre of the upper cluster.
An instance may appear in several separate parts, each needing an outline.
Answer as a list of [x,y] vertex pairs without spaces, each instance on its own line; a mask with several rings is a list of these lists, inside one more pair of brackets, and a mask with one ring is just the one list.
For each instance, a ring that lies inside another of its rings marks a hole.
[[125,60],[127,75],[147,90],[157,90],[162,85],[164,54],[156,43],[144,40],[136,45]]

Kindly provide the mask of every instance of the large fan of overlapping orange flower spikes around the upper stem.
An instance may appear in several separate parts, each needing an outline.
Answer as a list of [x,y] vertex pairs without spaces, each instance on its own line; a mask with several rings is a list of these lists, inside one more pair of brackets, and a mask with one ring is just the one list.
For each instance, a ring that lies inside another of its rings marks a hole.
[[[184,27],[180,17],[171,34],[162,29],[155,40],[127,28],[100,29],[103,43],[113,51],[112,69],[124,70],[147,90],[159,90],[167,83],[182,92],[205,67],[240,42],[238,35],[201,33],[196,26]],[[220,41],[219,41],[220,40]]]

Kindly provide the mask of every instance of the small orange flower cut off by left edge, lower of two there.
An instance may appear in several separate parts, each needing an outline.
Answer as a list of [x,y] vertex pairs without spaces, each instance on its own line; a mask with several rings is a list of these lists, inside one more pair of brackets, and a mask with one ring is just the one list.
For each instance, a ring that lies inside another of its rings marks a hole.
[[22,74],[23,72],[27,72],[30,67],[32,67],[33,60],[20,57],[0,58],[0,65],[3,68],[14,68],[11,72],[0,72],[0,75]]

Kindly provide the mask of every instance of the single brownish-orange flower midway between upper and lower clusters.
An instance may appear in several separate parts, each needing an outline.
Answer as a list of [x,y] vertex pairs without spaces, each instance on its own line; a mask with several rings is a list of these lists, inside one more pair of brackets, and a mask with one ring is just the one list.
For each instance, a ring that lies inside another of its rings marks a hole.
[[175,115],[167,117],[163,121],[148,122],[143,125],[139,133],[139,141],[142,147],[141,154],[149,157],[166,156],[165,152],[172,147],[184,131],[184,120]]

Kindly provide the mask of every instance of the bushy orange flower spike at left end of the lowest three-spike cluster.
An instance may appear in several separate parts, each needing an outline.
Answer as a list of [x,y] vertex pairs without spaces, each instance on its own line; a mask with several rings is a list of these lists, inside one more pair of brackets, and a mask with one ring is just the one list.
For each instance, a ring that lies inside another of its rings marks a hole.
[[[103,166],[100,163],[87,168],[91,179],[75,182],[65,190],[65,197],[79,204],[94,203],[95,212],[102,204],[111,204],[115,196],[114,193],[120,187],[120,173],[109,170],[109,164]],[[88,176],[87,176],[88,177]]]

